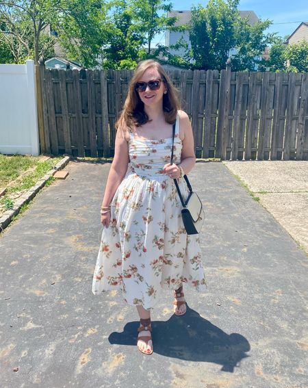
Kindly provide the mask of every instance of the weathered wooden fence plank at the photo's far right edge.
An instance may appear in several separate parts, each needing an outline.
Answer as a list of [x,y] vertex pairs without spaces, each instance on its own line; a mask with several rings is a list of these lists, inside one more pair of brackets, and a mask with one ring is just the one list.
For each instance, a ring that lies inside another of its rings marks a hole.
[[296,146],[296,159],[303,160],[303,148],[305,143],[305,137],[308,133],[305,133],[305,123],[308,120],[308,74],[303,74],[301,92],[300,92],[300,109],[298,113],[298,137]]

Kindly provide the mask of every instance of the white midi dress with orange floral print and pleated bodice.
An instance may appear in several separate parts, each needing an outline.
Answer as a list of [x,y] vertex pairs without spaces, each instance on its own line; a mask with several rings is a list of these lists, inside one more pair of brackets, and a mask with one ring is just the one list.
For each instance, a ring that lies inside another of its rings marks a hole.
[[[172,138],[140,140],[130,134],[129,166],[111,203],[94,269],[94,295],[122,289],[129,305],[151,309],[162,289],[188,283],[205,289],[198,235],[187,235],[173,179],[162,171],[170,162]],[[181,161],[177,118],[174,162]],[[179,179],[181,193],[188,189]]]

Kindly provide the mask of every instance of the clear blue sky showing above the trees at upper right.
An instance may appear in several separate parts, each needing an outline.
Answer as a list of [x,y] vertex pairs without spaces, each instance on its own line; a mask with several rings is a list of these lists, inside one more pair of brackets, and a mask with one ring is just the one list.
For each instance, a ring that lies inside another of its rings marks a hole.
[[[205,7],[207,1],[185,1],[185,0],[170,0],[173,4],[173,10],[190,10],[192,5],[199,3]],[[298,27],[300,22],[308,21],[308,1],[307,0],[241,0],[238,6],[240,11],[254,11],[261,19],[270,19],[273,25],[268,29],[269,32],[277,32],[279,36],[284,38],[285,35],[290,35]],[[296,23],[290,23],[296,22]],[[277,23],[277,24],[276,24]],[[283,23],[283,24],[279,24]],[[164,37],[157,36],[155,42],[160,40],[164,43]]]

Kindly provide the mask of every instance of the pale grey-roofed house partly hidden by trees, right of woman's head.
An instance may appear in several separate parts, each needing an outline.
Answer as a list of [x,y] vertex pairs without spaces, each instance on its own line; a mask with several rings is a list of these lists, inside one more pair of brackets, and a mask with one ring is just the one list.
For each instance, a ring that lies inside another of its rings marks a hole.
[[[248,18],[248,23],[250,25],[254,25],[255,23],[257,23],[257,21],[259,21],[259,18],[257,17],[257,15],[255,14],[255,12],[253,11],[239,11],[240,12],[240,16],[242,18]],[[168,17],[176,17],[177,18],[177,22],[175,23],[175,26],[179,26],[179,25],[185,25],[187,23],[190,22],[190,19],[192,18],[192,12],[191,11],[171,11],[171,12],[168,12],[167,14]],[[172,44],[175,44],[177,43],[177,41],[179,39],[183,38],[185,40],[185,42],[188,43],[188,47],[190,48],[191,45],[190,45],[190,34],[188,33],[188,31],[166,31],[166,47],[170,47]],[[183,55],[185,53],[185,50],[184,49],[180,49],[180,50],[172,50],[170,49],[170,53],[174,54],[174,55]],[[230,53],[231,55],[235,54],[236,51],[232,51],[232,53]]]

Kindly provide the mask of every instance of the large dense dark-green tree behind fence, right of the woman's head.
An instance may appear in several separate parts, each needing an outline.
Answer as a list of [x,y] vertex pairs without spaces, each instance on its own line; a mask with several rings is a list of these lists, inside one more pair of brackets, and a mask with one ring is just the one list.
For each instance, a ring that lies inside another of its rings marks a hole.
[[250,25],[238,12],[238,0],[209,0],[192,8],[190,41],[195,68],[221,70],[231,57],[233,70],[255,70],[275,34],[265,34],[271,22]]

